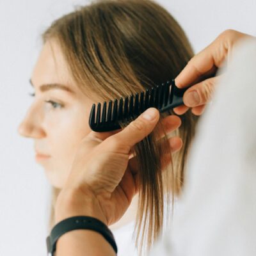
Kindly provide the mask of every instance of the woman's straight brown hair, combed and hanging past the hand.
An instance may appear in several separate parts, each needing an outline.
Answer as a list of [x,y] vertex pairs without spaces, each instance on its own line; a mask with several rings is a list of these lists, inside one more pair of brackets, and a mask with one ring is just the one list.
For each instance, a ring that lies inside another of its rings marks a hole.
[[[193,56],[177,21],[148,0],[102,0],[78,6],[52,22],[42,38],[44,43],[52,39],[58,42],[77,86],[95,103],[120,99],[175,78]],[[188,148],[198,120],[189,110],[180,116],[179,129],[171,134],[164,132],[164,138],[157,140],[156,134],[163,131],[161,120],[167,115],[175,113],[161,113],[154,131],[134,147],[141,184],[134,230],[140,252],[142,244],[150,248],[161,234],[164,202],[168,209],[170,195],[173,210],[173,198],[184,183]],[[170,136],[180,136],[183,141],[174,154],[168,146]],[[170,164],[163,161],[161,168],[161,156],[169,156]],[[58,193],[60,189],[52,188],[49,229],[54,225]]]

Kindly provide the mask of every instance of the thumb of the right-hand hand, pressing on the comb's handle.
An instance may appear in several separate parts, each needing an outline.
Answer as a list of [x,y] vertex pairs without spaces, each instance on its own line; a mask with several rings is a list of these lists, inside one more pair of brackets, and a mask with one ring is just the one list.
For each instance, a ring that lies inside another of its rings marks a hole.
[[183,95],[184,104],[193,108],[210,102],[219,79],[220,76],[211,77],[191,86]]

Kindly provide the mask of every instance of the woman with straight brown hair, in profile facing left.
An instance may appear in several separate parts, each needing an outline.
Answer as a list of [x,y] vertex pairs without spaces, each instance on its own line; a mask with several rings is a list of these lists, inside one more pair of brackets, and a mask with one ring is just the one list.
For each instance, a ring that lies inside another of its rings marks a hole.
[[[52,22],[42,38],[42,52],[31,76],[36,97],[19,132],[35,139],[37,161],[52,184],[50,230],[56,198],[67,182],[77,147],[91,131],[92,104],[176,77],[193,51],[170,13],[145,0],[97,1],[78,8]],[[61,90],[51,90],[57,88]],[[138,198],[127,201],[129,209],[111,227],[115,230],[136,218],[136,246],[140,248],[144,243],[150,246],[161,234],[164,200],[173,204],[182,189],[186,156],[195,134],[198,116],[188,111],[180,118],[164,119],[170,113],[161,114],[157,129],[134,148],[136,157],[130,168],[141,170],[143,183]],[[160,129],[164,138],[159,142]],[[162,164],[163,154],[167,157]]]

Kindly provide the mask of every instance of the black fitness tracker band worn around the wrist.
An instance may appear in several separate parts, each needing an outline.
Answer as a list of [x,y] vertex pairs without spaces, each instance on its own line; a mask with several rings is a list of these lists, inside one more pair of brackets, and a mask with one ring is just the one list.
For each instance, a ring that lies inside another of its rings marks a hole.
[[48,256],[54,256],[56,243],[60,236],[75,229],[90,229],[99,232],[117,253],[115,238],[111,230],[102,221],[89,216],[74,216],[60,221],[52,228],[51,234],[46,238]]

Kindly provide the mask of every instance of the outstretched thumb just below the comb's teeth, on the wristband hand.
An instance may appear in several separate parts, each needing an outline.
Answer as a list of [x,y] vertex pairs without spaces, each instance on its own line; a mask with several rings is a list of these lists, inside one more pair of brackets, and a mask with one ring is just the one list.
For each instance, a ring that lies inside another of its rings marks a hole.
[[[150,132],[153,131],[159,120],[159,111],[156,108],[148,108],[138,118],[132,121],[125,129],[117,134],[109,137],[109,140],[115,140],[116,143],[110,143],[109,145],[118,145],[125,148],[124,153],[128,154],[131,148],[143,140]],[[116,148],[117,149],[117,148]]]

